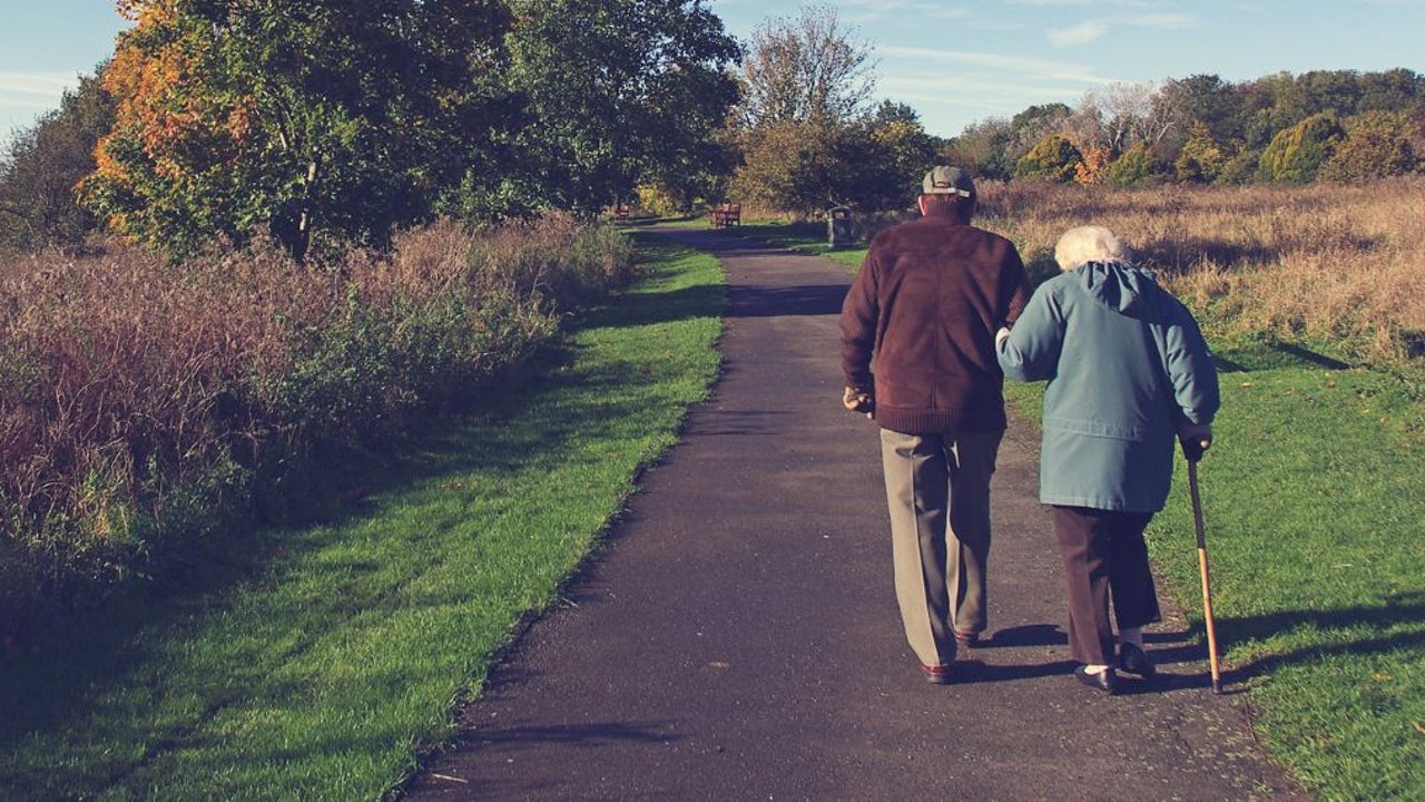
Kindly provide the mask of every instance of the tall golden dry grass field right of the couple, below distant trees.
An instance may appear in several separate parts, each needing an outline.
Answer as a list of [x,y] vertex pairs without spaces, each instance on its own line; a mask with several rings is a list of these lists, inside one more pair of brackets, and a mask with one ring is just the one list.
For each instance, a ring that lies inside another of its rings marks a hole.
[[1102,190],[980,188],[979,221],[1056,271],[1057,237],[1096,223],[1214,324],[1338,344],[1371,360],[1419,355],[1425,333],[1425,177],[1365,186]]

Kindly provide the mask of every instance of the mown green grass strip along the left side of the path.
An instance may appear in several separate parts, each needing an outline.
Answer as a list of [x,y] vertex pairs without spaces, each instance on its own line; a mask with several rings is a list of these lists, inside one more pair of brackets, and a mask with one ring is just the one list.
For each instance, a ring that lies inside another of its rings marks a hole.
[[376,799],[597,548],[717,374],[714,260],[646,278],[549,370],[366,465],[323,525],[212,549],[0,665],[7,799]]

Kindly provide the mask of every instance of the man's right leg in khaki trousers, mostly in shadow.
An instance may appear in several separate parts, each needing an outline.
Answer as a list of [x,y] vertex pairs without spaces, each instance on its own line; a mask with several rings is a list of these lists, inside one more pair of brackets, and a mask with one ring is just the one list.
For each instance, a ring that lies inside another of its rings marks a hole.
[[950,545],[946,567],[953,599],[952,622],[963,635],[989,625],[989,484],[1005,432],[966,432],[948,457],[950,474]]

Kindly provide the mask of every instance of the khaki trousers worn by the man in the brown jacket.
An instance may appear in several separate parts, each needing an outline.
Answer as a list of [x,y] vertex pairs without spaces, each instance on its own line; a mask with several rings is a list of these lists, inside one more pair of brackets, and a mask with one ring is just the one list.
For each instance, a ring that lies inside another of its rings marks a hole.
[[881,430],[896,601],[922,664],[955,659],[955,631],[986,626],[989,481],[1003,431]]

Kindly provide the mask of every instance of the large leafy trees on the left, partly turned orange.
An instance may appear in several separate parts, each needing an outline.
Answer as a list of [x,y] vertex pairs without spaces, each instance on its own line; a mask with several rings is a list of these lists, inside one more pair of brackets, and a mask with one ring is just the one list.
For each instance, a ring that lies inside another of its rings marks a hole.
[[737,98],[737,41],[685,0],[118,6],[113,59],[0,163],[0,244],[103,225],[174,258],[275,237],[306,260],[443,215],[687,197]]

